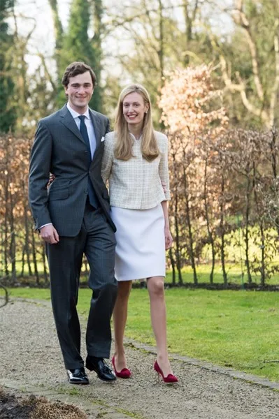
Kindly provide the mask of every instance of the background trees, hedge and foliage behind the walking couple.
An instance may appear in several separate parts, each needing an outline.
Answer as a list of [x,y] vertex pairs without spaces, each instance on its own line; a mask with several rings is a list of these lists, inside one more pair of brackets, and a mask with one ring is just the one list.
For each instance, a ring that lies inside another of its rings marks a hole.
[[219,266],[224,286],[232,266],[250,286],[278,282],[279,1],[69,0],[65,16],[59,1],[41,0],[52,20],[50,53],[36,39],[39,2],[0,2],[6,281],[48,283],[27,204],[29,151],[38,119],[65,103],[64,68],[83,60],[98,80],[92,108],[113,122],[120,89],[142,82],[155,126],[169,136],[173,284],[190,266],[198,285],[204,265],[210,284]]

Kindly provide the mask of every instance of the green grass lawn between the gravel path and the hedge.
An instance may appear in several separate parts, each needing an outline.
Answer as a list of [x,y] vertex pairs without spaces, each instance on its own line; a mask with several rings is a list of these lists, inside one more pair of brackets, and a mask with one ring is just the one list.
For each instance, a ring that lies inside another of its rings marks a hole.
[[[10,289],[12,297],[50,298],[50,291]],[[80,289],[78,310],[87,315],[90,291]],[[279,381],[279,293],[259,291],[166,290],[170,353],[207,360]],[[155,344],[149,298],[134,289],[126,336]]]

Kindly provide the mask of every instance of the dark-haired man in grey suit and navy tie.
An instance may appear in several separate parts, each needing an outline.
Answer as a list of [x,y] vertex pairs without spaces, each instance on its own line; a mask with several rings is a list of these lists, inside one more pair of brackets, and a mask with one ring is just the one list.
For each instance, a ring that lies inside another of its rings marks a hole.
[[[104,135],[109,121],[88,108],[96,85],[90,66],[70,64],[62,78],[68,103],[38,123],[31,151],[29,202],[36,229],[46,242],[52,309],[69,382],[88,384],[80,356],[76,304],[83,254],[92,289],[87,321],[86,367],[103,381],[115,374],[109,358],[110,318],[117,295],[115,225],[101,179]],[[47,189],[49,174],[55,180]]]

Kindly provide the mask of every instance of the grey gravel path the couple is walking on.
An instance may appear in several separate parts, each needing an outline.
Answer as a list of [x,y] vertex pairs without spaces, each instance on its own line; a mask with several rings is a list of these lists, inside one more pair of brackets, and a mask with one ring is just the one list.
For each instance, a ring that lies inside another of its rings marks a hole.
[[[83,335],[83,353],[84,341]],[[50,305],[15,300],[0,309],[0,385],[73,402],[89,418],[279,418],[279,392],[271,388],[182,357],[172,360],[178,385],[166,385],[152,370],[154,354],[127,344],[127,358],[129,380],[103,383],[90,373],[90,385],[69,385]]]

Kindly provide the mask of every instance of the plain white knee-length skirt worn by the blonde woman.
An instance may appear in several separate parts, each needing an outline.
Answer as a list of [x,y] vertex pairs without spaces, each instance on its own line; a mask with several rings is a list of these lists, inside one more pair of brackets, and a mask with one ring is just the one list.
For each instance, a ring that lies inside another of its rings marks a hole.
[[164,212],[162,205],[149,210],[111,207],[117,232],[115,278],[130,281],[166,276]]

